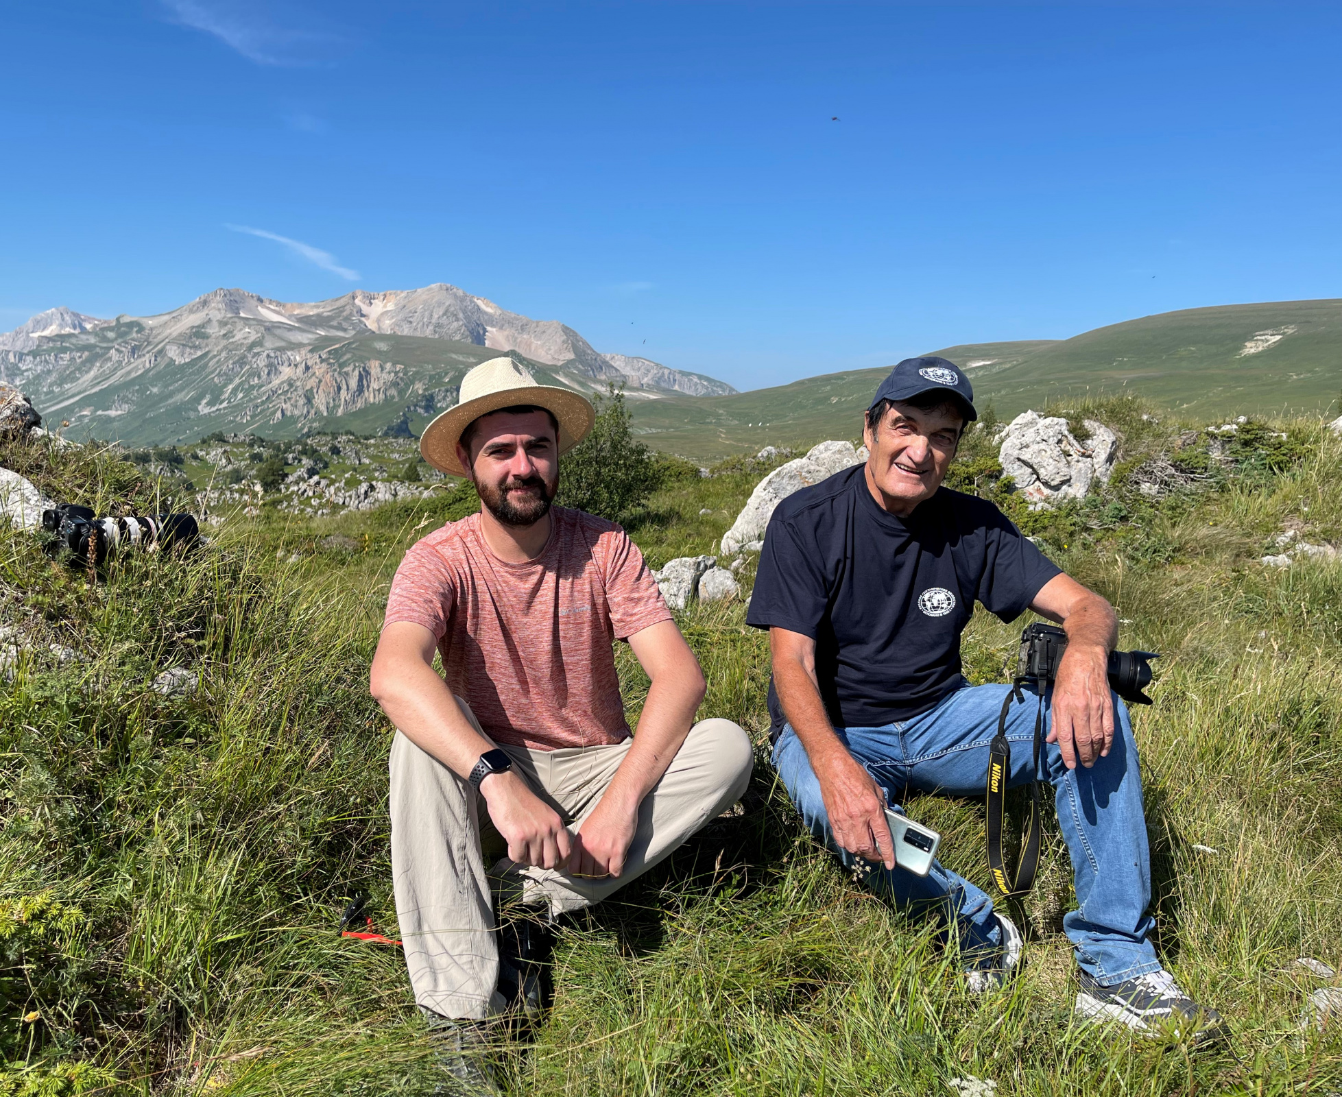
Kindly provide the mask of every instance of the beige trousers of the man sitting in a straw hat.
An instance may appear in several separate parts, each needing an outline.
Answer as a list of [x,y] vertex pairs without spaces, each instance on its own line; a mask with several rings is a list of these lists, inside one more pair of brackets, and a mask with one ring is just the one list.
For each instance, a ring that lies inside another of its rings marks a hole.
[[[466,701],[456,700],[480,731]],[[596,807],[632,742],[557,751],[502,750],[574,831]],[[731,806],[750,781],[750,740],[737,724],[695,724],[639,807],[620,877],[578,880],[507,860],[506,844],[482,810],[479,794],[396,732],[391,758],[392,873],[416,1003],[452,1018],[479,1019],[499,1011],[497,892],[548,905],[552,916],[600,903]],[[486,857],[491,862],[501,858],[488,873]]]

